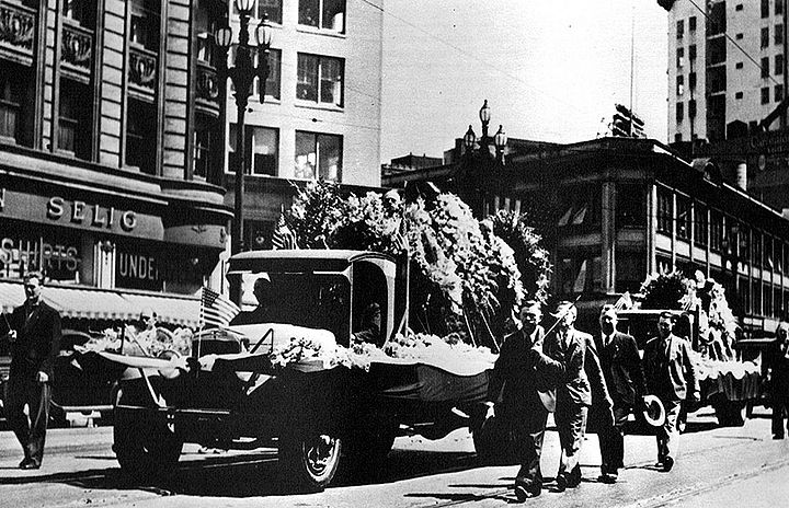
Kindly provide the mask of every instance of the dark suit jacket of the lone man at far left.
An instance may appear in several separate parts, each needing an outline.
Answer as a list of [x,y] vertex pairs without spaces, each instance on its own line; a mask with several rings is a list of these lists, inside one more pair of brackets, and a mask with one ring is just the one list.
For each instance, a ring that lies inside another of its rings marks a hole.
[[53,365],[60,351],[60,314],[39,302],[27,319],[27,304],[14,309],[9,323],[16,331],[11,345],[11,377],[35,379],[46,372],[52,381]]

